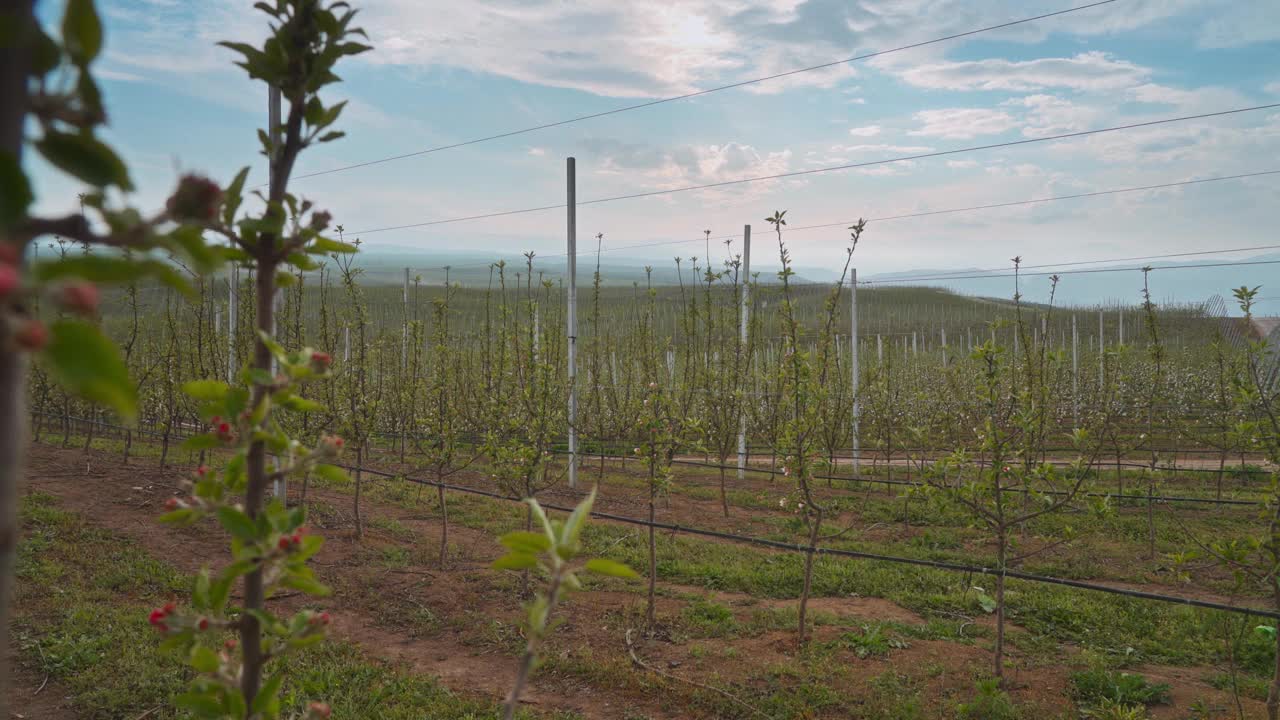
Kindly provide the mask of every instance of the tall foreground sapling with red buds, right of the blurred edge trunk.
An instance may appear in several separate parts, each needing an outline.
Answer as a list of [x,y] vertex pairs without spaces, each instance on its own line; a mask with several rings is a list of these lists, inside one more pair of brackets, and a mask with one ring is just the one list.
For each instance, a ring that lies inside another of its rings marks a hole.
[[[342,137],[329,128],[344,104],[325,105],[317,92],[338,81],[333,74],[338,59],[369,46],[352,40],[364,32],[351,27],[356,13],[346,3],[278,0],[274,6],[259,3],[257,8],[270,18],[262,47],[224,45],[243,58],[239,65],[251,78],[279,88],[288,104],[283,127],[260,133],[271,165],[266,208],[256,217],[238,215],[248,168],[225,192],[210,181],[196,179],[179,186],[169,201],[174,214],[198,219],[230,241],[229,256],[253,272],[257,337],[251,364],[234,386],[196,380],[184,388],[201,404],[201,418],[209,423],[209,432],[195,436],[187,446],[227,448],[232,457],[221,470],[197,470],[189,498],[173,498],[165,516],[188,523],[215,515],[233,537],[233,561],[215,577],[200,577],[189,609],[165,606],[152,615],[152,624],[173,635],[169,644],[188,648],[197,671],[191,692],[179,696],[179,705],[202,716],[271,719],[280,712],[278,693],[284,675],[283,669],[268,675],[268,662],[319,642],[326,616],[302,611],[285,621],[269,612],[265,602],[282,587],[310,594],[326,591],[306,565],[306,559],[319,550],[320,538],[305,533],[301,509],[288,510],[280,500],[266,502],[266,489],[273,480],[301,477],[307,470],[343,477],[329,461],[344,445],[337,437],[303,445],[284,433],[276,416],[279,411],[319,407],[296,388],[326,377],[332,359],[311,348],[287,351],[274,340],[275,292],[282,281],[292,277],[285,268],[315,269],[315,255],[356,250],[325,237],[329,213],[314,210],[310,201],[300,201],[287,188],[302,150]],[[291,215],[305,220],[291,227]],[[269,452],[276,459],[273,464]],[[241,578],[243,606],[232,609],[227,602]],[[207,643],[225,630],[236,630],[239,641],[219,653]],[[314,714],[326,712],[317,708]]]

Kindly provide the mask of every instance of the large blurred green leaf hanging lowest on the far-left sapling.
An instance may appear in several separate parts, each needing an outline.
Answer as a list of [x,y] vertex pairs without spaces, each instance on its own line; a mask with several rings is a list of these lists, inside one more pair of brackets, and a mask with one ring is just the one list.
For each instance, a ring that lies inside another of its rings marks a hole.
[[137,391],[124,359],[96,327],[79,320],[54,323],[44,357],[73,393],[115,410],[127,423],[137,416]]

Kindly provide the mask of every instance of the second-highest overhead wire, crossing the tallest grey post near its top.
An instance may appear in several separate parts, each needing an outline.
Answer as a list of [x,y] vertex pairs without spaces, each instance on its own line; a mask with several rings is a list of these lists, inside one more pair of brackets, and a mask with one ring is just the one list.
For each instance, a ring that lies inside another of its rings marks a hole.
[[[890,165],[890,164],[893,164],[893,163],[905,163],[905,161],[909,161],[909,160],[927,160],[927,159],[931,159],[931,158],[946,158],[946,156],[951,156],[951,155],[961,155],[961,154],[965,154],[965,152],[978,152],[978,151],[983,151],[983,150],[998,150],[998,149],[1002,149],[1002,147],[1018,147],[1018,146],[1023,146],[1023,145],[1034,145],[1034,143],[1041,143],[1041,142],[1053,142],[1053,141],[1057,141],[1057,140],[1070,140],[1070,138],[1076,138],[1076,137],[1089,137],[1089,136],[1103,135],[1103,133],[1108,133],[1108,132],[1120,132],[1120,131],[1128,131],[1128,129],[1137,129],[1137,128],[1164,126],[1164,124],[1170,124],[1170,123],[1181,123],[1181,122],[1187,122],[1187,120],[1202,120],[1202,119],[1207,119],[1207,118],[1221,118],[1221,117],[1236,115],[1236,114],[1242,114],[1242,113],[1253,113],[1253,111],[1257,111],[1257,110],[1270,110],[1270,109],[1274,109],[1274,108],[1280,108],[1280,102],[1271,102],[1271,104],[1267,104],[1267,105],[1254,105],[1252,108],[1234,108],[1231,110],[1219,110],[1216,113],[1199,113],[1199,114],[1196,114],[1196,115],[1179,115],[1179,117],[1175,117],[1175,118],[1162,118],[1162,119],[1158,119],[1158,120],[1146,120],[1146,122],[1140,122],[1140,123],[1126,123],[1126,124],[1123,124],[1123,126],[1111,126],[1111,127],[1096,128],[1096,129],[1085,129],[1085,131],[1076,131],[1076,132],[1065,132],[1065,133],[1050,135],[1050,136],[1044,136],[1044,137],[1030,137],[1030,138],[1024,138],[1024,140],[1009,140],[1009,141],[1005,141],[1005,142],[992,142],[992,143],[987,143],[987,145],[972,145],[969,147],[956,147],[954,150],[936,150],[936,151],[932,151],[932,152],[916,152],[914,155],[900,155],[897,158],[886,158],[886,159],[882,159],[882,160],[864,160],[861,163],[846,163],[846,164],[842,164],[842,165],[828,165],[828,167],[824,167],[824,168],[812,168],[812,169],[808,169],[808,170],[792,170],[790,173],[774,173],[774,174],[768,174],[768,176],[756,176],[756,177],[750,177],[750,178],[740,178],[740,179],[731,179],[731,181],[709,182],[709,183],[701,183],[701,184],[690,184],[690,186],[673,187],[673,188],[667,188],[667,190],[650,190],[650,191],[645,191],[645,192],[632,192],[632,193],[628,193],[628,195],[616,195],[616,196],[612,196],[612,197],[598,197],[595,200],[582,200],[582,201],[579,201],[577,205],[579,206],[584,206],[584,205],[600,205],[600,204],[604,204],[604,202],[617,202],[620,200],[636,200],[636,199],[641,199],[641,197],[657,197],[659,195],[675,195],[675,193],[678,193],[678,192],[690,192],[690,191],[694,191],[694,190],[710,190],[710,188],[717,188],[717,187],[730,187],[730,186],[735,186],[735,184],[745,184],[745,183],[751,183],[751,182],[762,182],[762,181],[772,181],[772,179],[787,179],[787,178],[796,178],[796,177],[804,177],[804,176],[814,176],[814,174],[820,174],[820,173],[832,173],[832,172],[837,172],[837,170],[851,170],[851,169],[858,169],[858,168],[870,168],[870,167],[877,167],[877,165]],[[402,224],[402,225],[388,225],[388,227],[381,227],[381,228],[369,228],[369,229],[353,231],[352,234],[374,234],[374,233],[379,233],[379,232],[389,232],[389,231],[399,231],[399,229],[410,229],[410,228],[424,228],[424,227],[431,227],[431,225],[444,225],[444,224],[451,224],[451,223],[462,223],[462,222],[480,220],[480,219],[486,219],[486,218],[500,218],[500,217],[508,217],[508,215],[521,215],[521,214],[527,214],[527,213],[540,213],[540,211],[544,211],[544,210],[556,210],[556,209],[561,209],[561,208],[564,208],[563,202],[559,202],[559,204],[556,204],[556,205],[541,205],[541,206],[538,206],[538,208],[522,208],[522,209],[517,209],[517,210],[500,210],[500,211],[494,211],[494,213],[481,213],[481,214],[477,214],[477,215],[466,215],[466,217],[461,217],[461,218],[447,218],[447,219],[442,219],[442,220],[425,220],[425,222],[421,222],[421,223],[407,223],[407,224]]]

